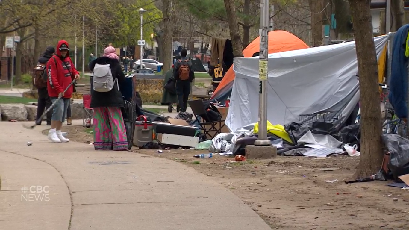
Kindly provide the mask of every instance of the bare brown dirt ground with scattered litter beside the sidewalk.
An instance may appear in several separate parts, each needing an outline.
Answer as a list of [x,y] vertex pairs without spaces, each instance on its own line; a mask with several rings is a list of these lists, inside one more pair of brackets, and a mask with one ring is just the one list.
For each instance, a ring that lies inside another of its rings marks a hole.
[[[70,140],[92,142],[81,126],[65,126]],[[133,149],[135,153],[175,160],[212,177],[252,207],[273,229],[375,230],[407,229],[409,190],[386,187],[387,182],[345,184],[359,158],[277,157],[235,162],[192,149]],[[335,168],[333,171],[324,171]],[[324,170],[322,170],[324,169]],[[326,182],[338,180],[337,182]],[[390,197],[389,197],[390,196]],[[397,202],[393,198],[398,198]]]

